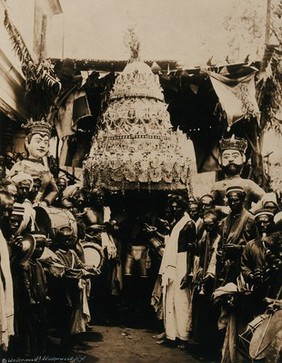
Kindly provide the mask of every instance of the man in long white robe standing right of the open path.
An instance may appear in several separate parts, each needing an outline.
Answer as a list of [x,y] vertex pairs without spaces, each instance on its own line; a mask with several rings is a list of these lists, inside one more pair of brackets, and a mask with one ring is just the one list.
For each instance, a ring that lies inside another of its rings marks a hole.
[[191,246],[195,242],[196,228],[180,196],[172,196],[169,205],[174,216],[170,234],[166,237],[160,267],[163,288],[164,326],[168,342],[179,341],[184,349],[191,331],[191,291],[187,278],[191,272]]

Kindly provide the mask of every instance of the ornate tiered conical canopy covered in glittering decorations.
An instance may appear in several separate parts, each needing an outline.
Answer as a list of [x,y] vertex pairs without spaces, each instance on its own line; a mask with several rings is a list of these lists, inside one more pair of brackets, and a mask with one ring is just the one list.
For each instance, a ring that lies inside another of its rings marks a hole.
[[191,145],[172,130],[158,76],[131,59],[116,79],[84,162],[85,182],[90,190],[190,189]]

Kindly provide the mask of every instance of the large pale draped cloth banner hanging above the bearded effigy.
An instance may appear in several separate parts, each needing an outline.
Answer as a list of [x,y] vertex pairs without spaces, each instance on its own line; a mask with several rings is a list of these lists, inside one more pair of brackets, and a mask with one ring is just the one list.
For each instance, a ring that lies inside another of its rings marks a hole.
[[256,117],[259,121],[260,111],[255,90],[256,72],[235,79],[214,72],[207,73],[226,112],[229,127],[242,118]]

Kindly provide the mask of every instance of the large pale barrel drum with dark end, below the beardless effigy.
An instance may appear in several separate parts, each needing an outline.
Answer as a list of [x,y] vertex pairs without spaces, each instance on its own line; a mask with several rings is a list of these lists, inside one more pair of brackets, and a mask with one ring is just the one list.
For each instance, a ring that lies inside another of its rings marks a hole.
[[61,227],[71,227],[77,236],[77,223],[74,215],[65,208],[35,207],[35,222],[40,231],[45,232],[53,239],[56,231]]

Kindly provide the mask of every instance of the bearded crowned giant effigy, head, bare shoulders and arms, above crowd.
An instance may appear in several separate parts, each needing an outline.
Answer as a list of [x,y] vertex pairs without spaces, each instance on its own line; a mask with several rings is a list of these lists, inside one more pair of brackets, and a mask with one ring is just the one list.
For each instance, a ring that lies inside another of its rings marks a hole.
[[222,138],[219,142],[219,164],[225,174],[225,179],[214,183],[211,194],[215,204],[226,205],[226,189],[234,185],[242,187],[246,192],[244,206],[247,210],[252,203],[257,203],[264,196],[264,190],[253,180],[243,179],[241,171],[246,162],[246,150],[248,142],[244,138],[232,135],[230,138]]

